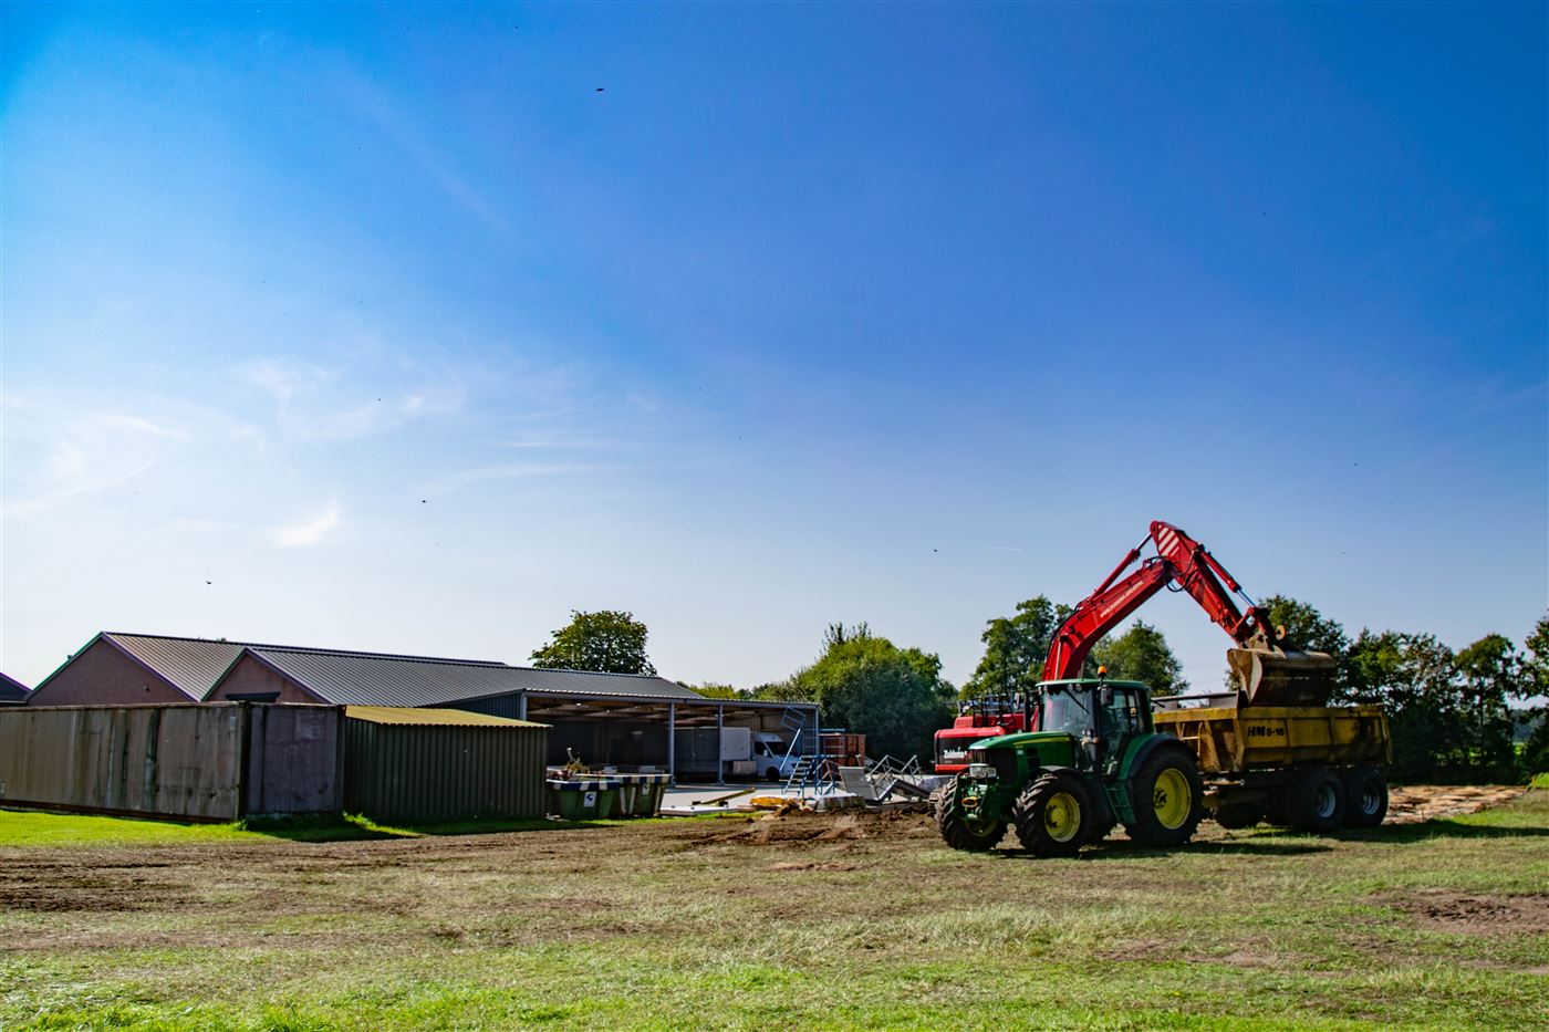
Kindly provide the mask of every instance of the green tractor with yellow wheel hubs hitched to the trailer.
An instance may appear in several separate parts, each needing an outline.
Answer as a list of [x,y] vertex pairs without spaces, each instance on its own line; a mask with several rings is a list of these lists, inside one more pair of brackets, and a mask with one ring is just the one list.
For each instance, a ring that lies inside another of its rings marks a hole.
[[954,849],[993,849],[1016,827],[1039,857],[1073,857],[1121,823],[1146,846],[1180,846],[1205,815],[1188,747],[1151,724],[1151,693],[1132,680],[1046,680],[1025,727],[974,742],[968,769],[942,789],[936,824]]

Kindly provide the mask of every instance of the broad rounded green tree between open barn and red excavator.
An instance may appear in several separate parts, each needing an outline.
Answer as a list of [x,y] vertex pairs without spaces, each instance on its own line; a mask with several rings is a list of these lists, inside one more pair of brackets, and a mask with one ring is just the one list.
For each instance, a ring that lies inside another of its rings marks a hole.
[[816,702],[829,727],[866,734],[872,756],[929,756],[931,736],[953,717],[953,686],[942,660],[900,649],[863,623],[830,624],[823,655],[788,682],[795,697]]

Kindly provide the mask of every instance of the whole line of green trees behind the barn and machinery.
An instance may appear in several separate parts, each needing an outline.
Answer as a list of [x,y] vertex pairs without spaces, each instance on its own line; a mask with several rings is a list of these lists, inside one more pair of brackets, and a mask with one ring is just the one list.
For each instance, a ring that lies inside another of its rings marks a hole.
[[[1393,731],[1394,781],[1516,781],[1549,770],[1549,615],[1518,649],[1487,634],[1453,651],[1431,634],[1362,629],[1354,638],[1314,606],[1264,600],[1286,638],[1338,660],[1332,702],[1380,703]],[[931,738],[968,699],[1010,697],[1038,683],[1055,629],[1070,614],[1046,595],[1018,603],[981,634],[984,654],[962,688],[942,677],[934,652],[900,648],[864,623],[833,623],[818,657],[790,677],[756,688],[694,685],[711,699],[813,702],[826,727],[867,736],[874,756],[931,756]],[[627,612],[573,612],[533,652],[539,668],[655,674],[646,624]],[[1134,621],[1094,646],[1084,673],[1139,680],[1154,694],[1187,693],[1165,635]],[[1230,674],[1224,679],[1230,685]],[[1515,707],[1513,707],[1515,703]]]

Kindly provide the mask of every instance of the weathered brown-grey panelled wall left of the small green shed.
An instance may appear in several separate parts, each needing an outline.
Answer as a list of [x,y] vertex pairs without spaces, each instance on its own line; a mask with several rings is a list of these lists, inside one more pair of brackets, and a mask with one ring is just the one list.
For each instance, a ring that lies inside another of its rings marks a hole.
[[[254,798],[270,814],[338,810],[339,711],[305,710],[271,724],[235,703],[8,708],[0,804],[212,821],[260,812]],[[304,741],[266,748],[280,734]]]

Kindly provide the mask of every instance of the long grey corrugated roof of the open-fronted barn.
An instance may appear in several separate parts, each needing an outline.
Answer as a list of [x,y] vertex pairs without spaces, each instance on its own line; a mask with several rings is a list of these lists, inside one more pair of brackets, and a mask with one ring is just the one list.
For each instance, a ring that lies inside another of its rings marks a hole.
[[514,693],[599,699],[703,700],[666,677],[533,669],[404,655],[254,648],[252,652],[327,702],[434,707]]

